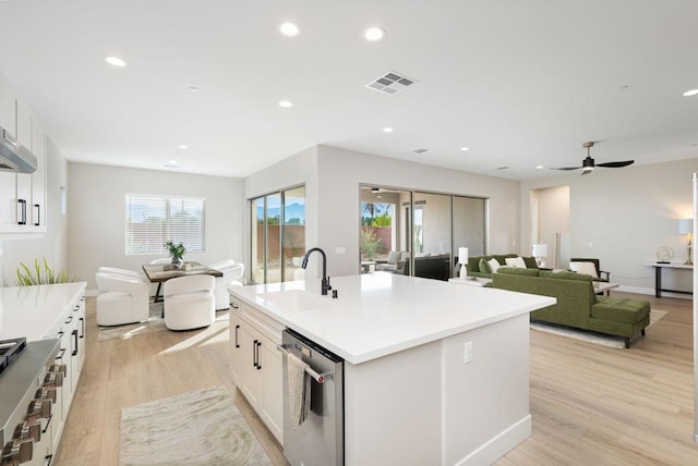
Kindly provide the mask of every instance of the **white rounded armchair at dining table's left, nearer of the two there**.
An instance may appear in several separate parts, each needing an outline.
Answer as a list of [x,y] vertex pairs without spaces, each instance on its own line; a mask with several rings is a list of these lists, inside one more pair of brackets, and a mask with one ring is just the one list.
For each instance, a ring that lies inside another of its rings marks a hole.
[[140,277],[99,271],[96,274],[97,323],[121,326],[141,322],[149,316],[148,283]]

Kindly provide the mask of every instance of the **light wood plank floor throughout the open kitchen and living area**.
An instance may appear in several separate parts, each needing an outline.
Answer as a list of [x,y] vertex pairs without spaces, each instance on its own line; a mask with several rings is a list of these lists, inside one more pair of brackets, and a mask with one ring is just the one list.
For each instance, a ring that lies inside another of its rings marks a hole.
[[[698,465],[691,302],[636,297],[669,314],[630,350],[531,331],[533,434],[497,465]],[[85,366],[55,465],[117,465],[122,407],[216,384],[233,394],[273,463],[287,464],[232,383],[227,321],[96,341],[88,298],[87,328]]]

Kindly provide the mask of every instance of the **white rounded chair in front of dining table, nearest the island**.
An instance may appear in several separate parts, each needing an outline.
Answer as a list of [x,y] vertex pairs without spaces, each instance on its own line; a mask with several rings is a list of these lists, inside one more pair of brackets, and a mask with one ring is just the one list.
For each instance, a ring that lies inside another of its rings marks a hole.
[[163,286],[165,326],[170,330],[208,327],[216,319],[213,275],[186,275],[170,279]]

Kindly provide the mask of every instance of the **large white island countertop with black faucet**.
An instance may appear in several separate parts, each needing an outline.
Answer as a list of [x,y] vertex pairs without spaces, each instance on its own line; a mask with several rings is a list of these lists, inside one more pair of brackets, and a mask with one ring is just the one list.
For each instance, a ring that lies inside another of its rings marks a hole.
[[[332,292],[321,295],[320,280],[237,286],[229,291],[351,364],[555,304],[555,298],[547,296],[385,272],[337,277],[330,282],[339,292],[337,299],[330,297]],[[278,292],[286,292],[286,297]],[[312,308],[293,310],[294,302]]]

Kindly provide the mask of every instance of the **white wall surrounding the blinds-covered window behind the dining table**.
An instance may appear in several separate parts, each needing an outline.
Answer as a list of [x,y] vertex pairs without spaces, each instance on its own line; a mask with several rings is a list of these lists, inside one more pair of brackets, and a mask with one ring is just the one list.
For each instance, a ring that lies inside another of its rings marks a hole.
[[243,260],[242,180],[134,170],[87,163],[69,164],[69,260],[71,277],[95,287],[100,266],[142,271],[163,255],[125,254],[125,195],[154,194],[206,199],[206,252],[186,253],[185,260],[210,263]]

